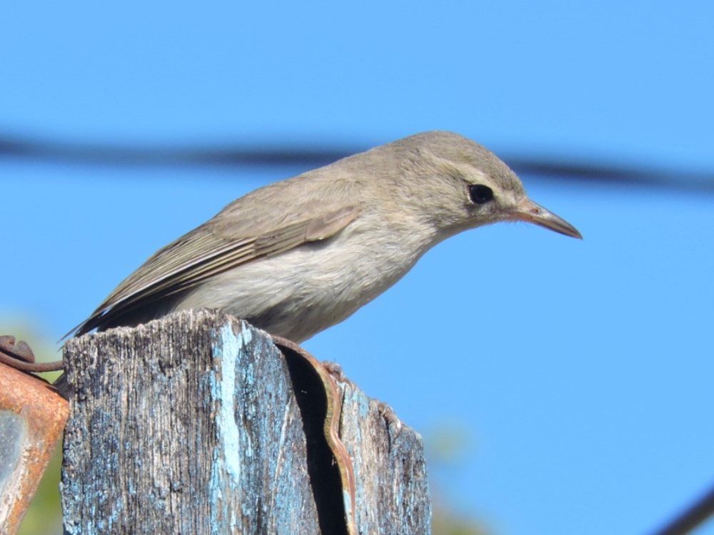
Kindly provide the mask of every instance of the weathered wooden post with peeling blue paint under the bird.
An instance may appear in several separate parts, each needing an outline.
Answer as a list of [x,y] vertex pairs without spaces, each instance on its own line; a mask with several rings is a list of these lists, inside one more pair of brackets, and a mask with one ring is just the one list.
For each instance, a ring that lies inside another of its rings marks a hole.
[[246,322],[179,312],[64,358],[67,534],[431,532],[421,437]]

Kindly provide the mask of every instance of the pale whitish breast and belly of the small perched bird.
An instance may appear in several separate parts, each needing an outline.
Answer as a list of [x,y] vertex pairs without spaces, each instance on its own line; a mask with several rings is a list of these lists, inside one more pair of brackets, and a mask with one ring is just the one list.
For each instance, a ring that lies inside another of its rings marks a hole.
[[426,251],[410,236],[343,232],[201,283],[176,310],[220,308],[302,342],[352,315],[397,282]]

